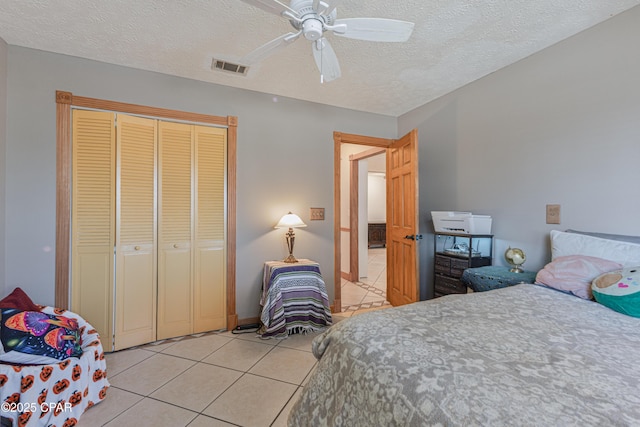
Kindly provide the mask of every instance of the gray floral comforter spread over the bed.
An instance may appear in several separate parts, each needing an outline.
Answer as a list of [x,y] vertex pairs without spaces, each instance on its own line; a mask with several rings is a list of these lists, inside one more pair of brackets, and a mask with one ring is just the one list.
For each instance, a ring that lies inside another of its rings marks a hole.
[[640,319],[536,285],[343,320],[289,426],[639,426]]

